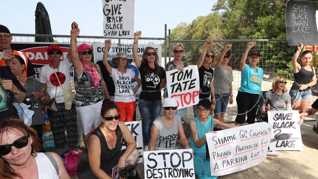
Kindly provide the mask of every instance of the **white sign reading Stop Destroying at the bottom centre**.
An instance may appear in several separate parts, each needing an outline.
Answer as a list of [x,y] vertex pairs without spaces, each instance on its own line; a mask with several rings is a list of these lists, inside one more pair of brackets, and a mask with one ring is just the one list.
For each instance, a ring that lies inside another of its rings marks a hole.
[[144,152],[145,179],[195,179],[192,149]]

